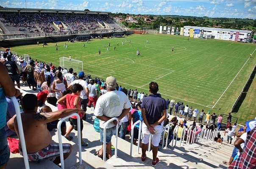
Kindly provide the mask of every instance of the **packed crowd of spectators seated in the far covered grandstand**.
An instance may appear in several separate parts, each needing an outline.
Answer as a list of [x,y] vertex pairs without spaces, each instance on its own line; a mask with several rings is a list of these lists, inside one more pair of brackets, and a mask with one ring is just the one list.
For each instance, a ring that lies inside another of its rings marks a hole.
[[[114,23],[113,19],[108,15],[64,15],[58,16],[53,14],[22,14],[22,15],[6,15],[0,13],[0,22],[3,25],[12,27],[19,27],[17,30],[35,30],[36,32],[51,33],[51,34],[74,34],[78,31],[103,29],[98,22]],[[53,22],[62,22],[64,25],[59,25],[60,29],[57,29]],[[104,25],[103,25],[104,26]],[[106,27],[104,27],[106,28]]]

